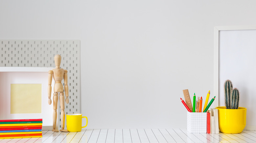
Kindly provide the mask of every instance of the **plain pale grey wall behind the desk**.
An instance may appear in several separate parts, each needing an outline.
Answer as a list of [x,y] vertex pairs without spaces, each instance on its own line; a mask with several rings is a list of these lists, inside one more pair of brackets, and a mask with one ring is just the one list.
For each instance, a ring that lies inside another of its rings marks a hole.
[[2,0],[0,39],[81,40],[87,128],[186,128],[182,89],[213,91],[213,27],[256,24],[255,5]]

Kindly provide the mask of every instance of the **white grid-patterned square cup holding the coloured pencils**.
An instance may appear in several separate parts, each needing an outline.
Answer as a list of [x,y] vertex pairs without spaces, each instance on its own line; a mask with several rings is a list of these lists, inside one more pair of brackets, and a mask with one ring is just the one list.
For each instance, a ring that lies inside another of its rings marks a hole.
[[187,112],[187,131],[189,133],[206,133],[207,113]]

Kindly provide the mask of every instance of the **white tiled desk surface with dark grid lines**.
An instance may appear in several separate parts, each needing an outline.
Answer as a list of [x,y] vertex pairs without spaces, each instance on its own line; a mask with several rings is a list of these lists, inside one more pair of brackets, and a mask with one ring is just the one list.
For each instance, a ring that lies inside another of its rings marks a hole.
[[81,132],[43,131],[40,138],[0,139],[0,143],[255,143],[256,131],[240,134],[191,134],[186,129],[82,129]]

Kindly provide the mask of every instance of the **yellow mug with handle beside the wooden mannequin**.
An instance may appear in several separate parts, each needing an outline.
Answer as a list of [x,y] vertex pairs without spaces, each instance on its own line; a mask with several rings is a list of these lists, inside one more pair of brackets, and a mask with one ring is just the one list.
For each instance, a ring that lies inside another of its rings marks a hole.
[[[86,118],[86,125],[82,127],[82,118]],[[80,132],[88,123],[87,117],[82,114],[67,114],[67,130],[69,132]]]

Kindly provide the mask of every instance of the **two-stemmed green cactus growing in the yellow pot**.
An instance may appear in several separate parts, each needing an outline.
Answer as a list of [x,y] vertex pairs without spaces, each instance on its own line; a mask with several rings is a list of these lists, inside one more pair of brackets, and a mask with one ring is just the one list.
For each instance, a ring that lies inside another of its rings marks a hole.
[[224,97],[226,109],[238,109],[239,91],[237,88],[233,89],[230,80],[226,80],[224,83]]

